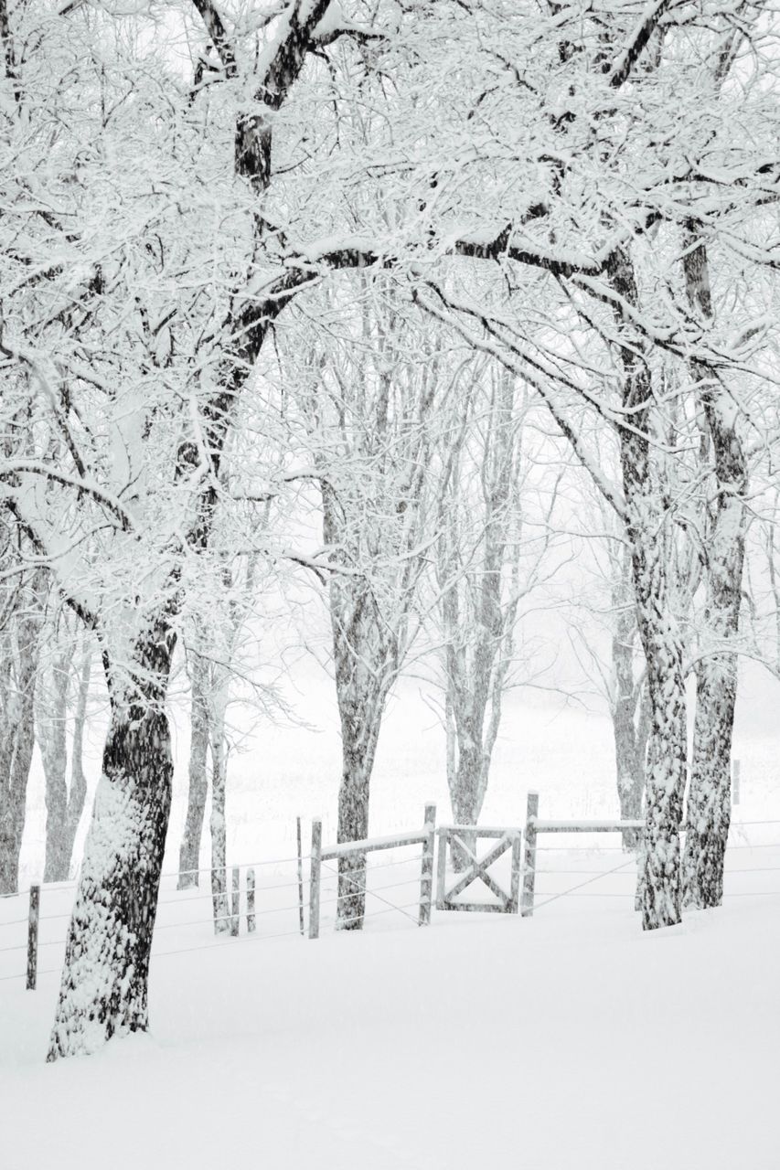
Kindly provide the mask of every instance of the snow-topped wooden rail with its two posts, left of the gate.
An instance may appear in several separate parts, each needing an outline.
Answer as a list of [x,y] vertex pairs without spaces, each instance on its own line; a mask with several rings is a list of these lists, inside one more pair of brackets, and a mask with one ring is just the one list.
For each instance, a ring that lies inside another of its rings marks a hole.
[[[427,925],[431,921],[431,903],[433,901],[433,855],[436,852],[436,805],[425,805],[425,819],[422,830],[413,830],[409,833],[394,833],[390,837],[374,837],[361,841],[343,841],[338,845],[322,845],[322,820],[312,821],[312,865],[309,873],[309,938],[320,937],[320,907],[322,869],[327,868],[328,861],[338,861],[340,858],[362,858],[367,853],[376,853],[381,849],[398,849],[409,845],[422,845],[419,876],[419,899],[409,906],[394,906],[386,902],[377,890],[365,890],[371,897],[378,897],[385,902],[389,910],[405,913],[412,907],[417,907],[417,922],[420,927]],[[365,874],[365,869],[353,870],[353,874]],[[405,885],[405,883],[402,883]],[[378,911],[386,913],[386,911]],[[409,916],[409,915],[408,915]]]

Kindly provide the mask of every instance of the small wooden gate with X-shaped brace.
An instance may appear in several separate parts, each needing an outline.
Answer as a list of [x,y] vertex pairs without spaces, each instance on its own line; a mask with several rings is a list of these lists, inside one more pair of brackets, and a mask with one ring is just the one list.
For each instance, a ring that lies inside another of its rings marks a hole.
[[[436,908],[437,910],[473,910],[473,911],[485,911],[487,910],[497,914],[516,914],[518,913],[518,901],[520,896],[520,841],[521,841],[521,830],[519,828],[485,828],[477,825],[443,825],[437,828],[437,834],[439,838],[439,866],[438,866],[438,883],[436,893]],[[487,853],[479,858],[474,849],[471,849],[466,845],[467,839],[474,838],[498,838],[497,844],[487,851]],[[466,840],[464,840],[466,838]],[[447,869],[447,846],[453,844],[460,849],[461,854],[467,859],[468,866],[465,873],[458,876],[454,886],[450,889],[446,888],[446,869]],[[512,878],[509,883],[509,893],[501,889],[499,883],[494,878],[487,873],[488,868],[494,861],[507,852],[512,849]],[[456,902],[454,899],[459,894],[463,894],[467,886],[471,886],[473,881],[481,881],[492,894],[495,895],[498,902]]]

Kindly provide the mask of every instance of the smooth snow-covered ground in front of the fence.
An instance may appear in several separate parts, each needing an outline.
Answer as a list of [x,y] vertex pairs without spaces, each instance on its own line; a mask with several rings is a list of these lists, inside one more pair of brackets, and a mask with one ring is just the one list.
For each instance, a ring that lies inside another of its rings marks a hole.
[[56,980],[6,983],[1,1164],[776,1170],[779,901],[170,955],[150,1035],[48,1067]]

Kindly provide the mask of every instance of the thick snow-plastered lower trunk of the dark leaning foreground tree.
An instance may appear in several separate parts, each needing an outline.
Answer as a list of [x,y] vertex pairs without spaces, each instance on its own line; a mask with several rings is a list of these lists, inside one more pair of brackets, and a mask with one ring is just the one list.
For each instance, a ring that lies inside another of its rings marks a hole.
[[135,648],[143,682],[129,698],[112,695],[50,1061],[95,1052],[112,1035],[149,1026],[149,959],[173,776],[162,710],[172,646],[173,635],[160,621]]

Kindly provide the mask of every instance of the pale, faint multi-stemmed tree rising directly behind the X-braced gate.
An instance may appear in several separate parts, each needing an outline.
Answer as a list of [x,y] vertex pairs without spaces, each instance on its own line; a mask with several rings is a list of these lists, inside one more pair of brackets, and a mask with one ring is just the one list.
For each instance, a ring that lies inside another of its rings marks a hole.
[[[524,466],[528,410],[519,379],[497,363],[473,363],[457,431],[443,453],[432,636],[442,646],[447,785],[459,825],[477,825],[487,792],[502,701],[516,682],[521,605],[556,567],[550,545],[557,477],[534,515],[532,493],[545,489],[532,486]],[[473,849],[473,840],[466,844]],[[453,848],[457,869],[465,860]]]

